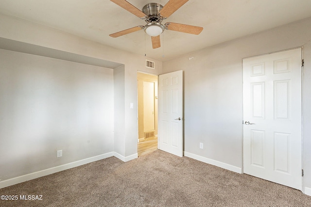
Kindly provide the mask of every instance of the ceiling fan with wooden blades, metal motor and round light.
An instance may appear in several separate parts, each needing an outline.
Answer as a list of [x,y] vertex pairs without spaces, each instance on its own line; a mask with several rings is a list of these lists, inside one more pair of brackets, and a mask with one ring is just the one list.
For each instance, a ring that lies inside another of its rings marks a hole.
[[163,19],[171,16],[177,9],[184,5],[188,0],[169,0],[164,6],[159,3],[148,3],[140,11],[138,8],[127,2],[126,0],[111,0],[123,9],[129,11],[135,16],[146,21],[145,26],[136,26],[127,30],[109,34],[111,37],[120,37],[125,34],[144,30],[151,36],[152,48],[160,48],[160,34],[164,30],[172,30],[177,32],[186,32],[190,34],[199,34],[202,32],[203,27],[197,27],[186,24],[179,24],[173,22],[167,22],[164,25],[161,24]]

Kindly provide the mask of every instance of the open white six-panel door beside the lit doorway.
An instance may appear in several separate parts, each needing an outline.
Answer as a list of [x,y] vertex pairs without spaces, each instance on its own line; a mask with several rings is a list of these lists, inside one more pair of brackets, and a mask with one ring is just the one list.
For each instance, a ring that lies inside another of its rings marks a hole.
[[183,157],[183,71],[159,76],[159,149]]

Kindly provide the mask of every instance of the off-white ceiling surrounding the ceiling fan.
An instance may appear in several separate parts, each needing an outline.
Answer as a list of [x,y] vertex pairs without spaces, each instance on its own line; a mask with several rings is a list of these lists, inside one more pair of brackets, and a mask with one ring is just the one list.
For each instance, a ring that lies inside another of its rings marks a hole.
[[[164,6],[168,0],[128,2],[141,10],[147,3]],[[189,0],[162,23],[200,26],[203,32],[193,35],[166,30],[157,49],[152,49],[151,38],[143,30],[117,38],[109,36],[146,24],[110,0],[0,0],[0,13],[165,61],[310,17],[311,0]]]

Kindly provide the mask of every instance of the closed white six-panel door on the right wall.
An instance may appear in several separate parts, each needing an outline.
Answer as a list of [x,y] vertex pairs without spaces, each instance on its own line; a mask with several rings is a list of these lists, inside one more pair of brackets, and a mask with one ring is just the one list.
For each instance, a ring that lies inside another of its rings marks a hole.
[[302,189],[302,48],[243,59],[244,173]]

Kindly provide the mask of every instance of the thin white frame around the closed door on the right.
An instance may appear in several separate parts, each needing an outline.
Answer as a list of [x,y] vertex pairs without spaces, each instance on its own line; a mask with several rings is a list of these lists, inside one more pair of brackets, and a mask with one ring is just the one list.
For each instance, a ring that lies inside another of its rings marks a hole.
[[[304,56],[303,56],[303,52],[304,52],[304,50],[303,50],[303,46],[301,46],[301,47],[297,47],[297,48],[301,48],[301,58],[302,58],[302,60],[304,59]],[[283,52],[283,51],[288,51],[288,50],[292,50],[292,49],[297,49],[297,48],[290,48],[290,49],[285,49],[285,50],[280,50],[280,51],[275,51],[275,52],[269,52],[269,53],[266,53],[266,54],[261,54],[261,55],[256,55],[256,56],[251,56],[251,57],[247,57],[247,58],[243,58],[243,59],[248,59],[248,58],[254,58],[254,57],[259,57],[259,56],[263,56],[263,55],[269,55],[269,54],[273,54],[273,53],[278,53],[278,52]],[[303,99],[304,99],[304,90],[303,90],[303,83],[304,83],[304,77],[303,77],[303,74],[304,74],[304,65],[303,65],[303,63],[302,63],[302,67],[301,67],[301,86],[302,86],[302,90],[301,90],[301,98],[302,98],[302,100],[301,100],[301,103],[302,103],[302,117],[301,117],[301,126],[302,126],[302,128],[301,128],[301,139],[302,139],[302,142],[301,142],[301,152],[302,152],[302,154],[301,154],[301,156],[302,156],[302,158],[301,158],[301,161],[302,161],[302,163],[301,163],[301,166],[302,166],[302,169],[304,169],[304,165],[303,165],[303,155],[304,155],[304,149],[303,149],[303,142],[304,142],[304,133],[303,133],[303,128],[304,128],[304,124],[303,124],[303,118],[304,118],[304,108],[303,108]],[[242,77],[243,77],[243,68],[242,68]],[[242,81],[243,81],[243,78],[242,78]],[[242,87],[242,119],[243,119],[243,117],[244,117],[244,103],[243,103],[243,87]],[[244,173],[244,121],[245,120],[242,120],[242,174]],[[303,179],[304,179],[304,177],[303,176],[301,176],[301,182],[302,182],[302,192],[304,192],[305,190],[305,188],[304,188],[304,182],[303,182]]]

